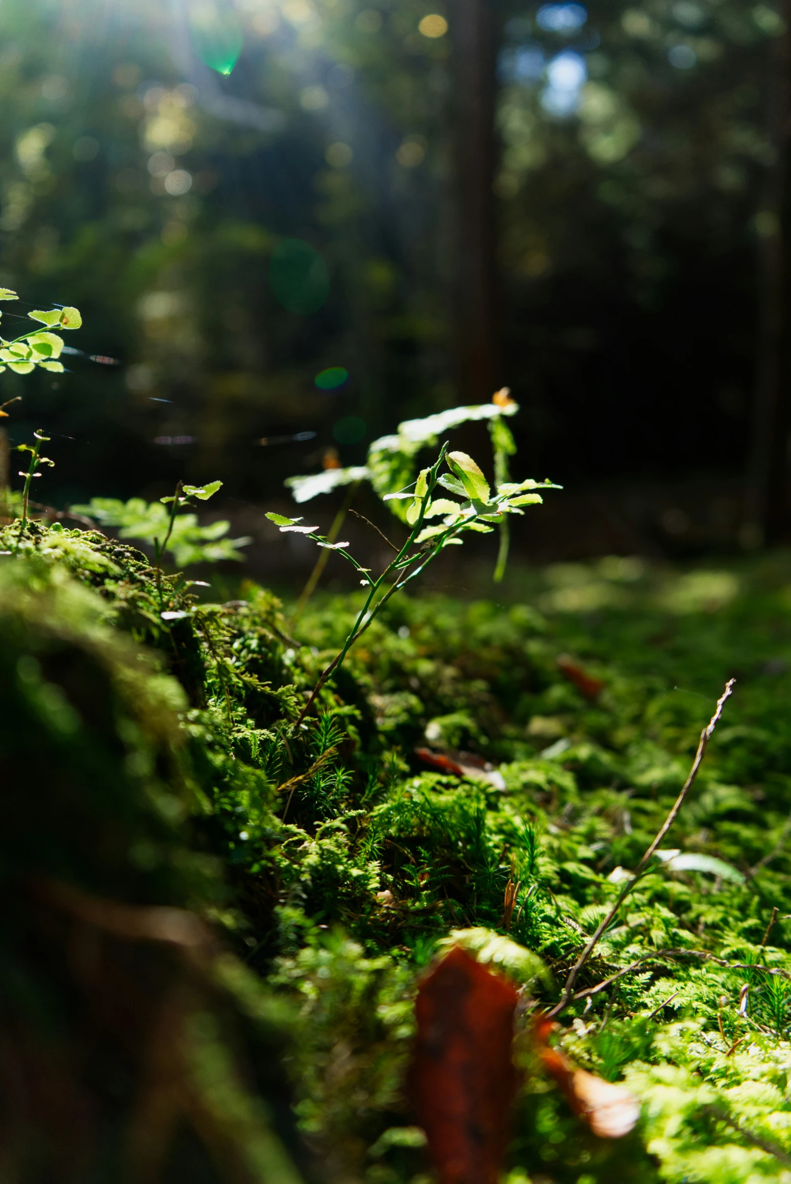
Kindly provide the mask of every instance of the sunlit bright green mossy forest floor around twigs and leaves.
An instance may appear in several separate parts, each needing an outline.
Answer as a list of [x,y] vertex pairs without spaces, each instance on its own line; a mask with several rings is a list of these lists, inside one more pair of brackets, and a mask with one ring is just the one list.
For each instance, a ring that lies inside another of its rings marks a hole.
[[[484,927],[539,954],[547,974],[529,991],[557,999],[619,890],[617,869],[639,861],[735,676],[665,844],[725,861],[732,879],[656,861],[578,986],[647,960],[562,1019],[578,1063],[625,1076],[643,1099],[641,1125],[618,1143],[593,1138],[522,1050],[508,1171],[512,1184],[791,1179],[789,556],[687,572],[609,559],[512,580],[501,601],[397,598],[295,728],[354,596],[316,597],[291,623],[252,585],[212,604],[211,591],[159,579],[140,552],[98,533],[33,525],[18,546],[18,529],[0,536],[7,619],[19,614],[9,588],[21,581],[46,599],[67,573],[101,597],[90,629],[159,655],[161,673],[140,677],[159,680],[180,718],[135,773],[162,793],[179,786],[168,825],[187,870],[176,887],[153,824],[118,838],[126,856],[107,879],[94,868],[88,880],[79,860],[57,874],[135,903],[171,893],[221,933],[263,996],[292,1002],[284,1063],[333,1179],[424,1177],[404,1090],[420,970],[452,931]],[[67,624],[65,600],[58,612]],[[562,654],[603,683],[593,701],[564,675]],[[83,719],[57,667],[39,665]],[[504,789],[429,770],[414,752],[426,742],[485,759]],[[20,755],[15,784],[24,770]],[[46,777],[57,800],[57,768]],[[187,875],[193,863],[208,888]],[[118,866],[133,869],[126,880]],[[520,886],[510,922],[509,881]]]

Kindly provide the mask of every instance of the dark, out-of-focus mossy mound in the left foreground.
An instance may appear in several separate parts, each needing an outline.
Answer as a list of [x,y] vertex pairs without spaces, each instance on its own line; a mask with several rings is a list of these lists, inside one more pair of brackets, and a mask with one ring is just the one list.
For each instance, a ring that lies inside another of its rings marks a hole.
[[185,691],[84,584],[52,548],[0,565],[0,1012],[25,1082],[6,1175],[300,1184],[291,1016],[201,920],[231,901],[195,830]]

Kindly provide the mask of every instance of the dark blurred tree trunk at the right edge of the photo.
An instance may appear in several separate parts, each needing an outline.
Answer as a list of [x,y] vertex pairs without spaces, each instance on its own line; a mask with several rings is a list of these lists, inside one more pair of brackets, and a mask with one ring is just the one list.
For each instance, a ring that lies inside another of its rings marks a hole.
[[776,542],[791,526],[791,0],[772,44],[769,126],[776,150],[763,208],[758,373],[744,542]]

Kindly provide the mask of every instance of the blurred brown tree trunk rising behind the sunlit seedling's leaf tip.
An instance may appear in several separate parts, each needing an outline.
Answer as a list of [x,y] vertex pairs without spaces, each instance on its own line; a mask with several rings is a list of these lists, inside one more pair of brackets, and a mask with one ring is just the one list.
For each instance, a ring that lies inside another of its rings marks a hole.
[[463,403],[484,403],[502,385],[493,192],[495,28],[491,0],[454,0],[455,208],[454,320]]

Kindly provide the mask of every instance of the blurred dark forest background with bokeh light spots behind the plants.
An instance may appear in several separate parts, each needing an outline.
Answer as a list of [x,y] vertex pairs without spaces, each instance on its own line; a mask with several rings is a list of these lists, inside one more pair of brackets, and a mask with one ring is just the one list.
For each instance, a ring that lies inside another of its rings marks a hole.
[[12,443],[232,509],[508,382],[526,471],[735,482],[759,541],[785,53],[745,0],[5,0],[0,283],[98,358],[5,374]]

